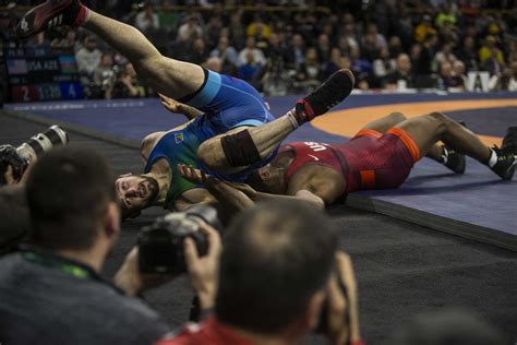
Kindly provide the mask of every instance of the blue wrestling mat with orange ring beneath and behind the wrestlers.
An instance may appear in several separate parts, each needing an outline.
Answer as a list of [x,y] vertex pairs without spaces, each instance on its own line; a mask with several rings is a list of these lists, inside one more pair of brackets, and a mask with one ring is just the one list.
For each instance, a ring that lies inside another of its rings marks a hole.
[[[409,117],[440,110],[481,134],[486,144],[500,143],[508,126],[517,124],[517,94],[370,94],[352,95],[334,112],[304,124],[287,142],[340,142],[360,126],[390,111]],[[284,115],[296,96],[267,99],[272,112]],[[5,105],[15,116],[43,123],[60,123],[83,133],[140,147],[140,140],[185,121],[165,110],[158,99],[89,100]],[[374,211],[462,237],[517,250],[517,180],[501,181],[485,166],[468,159],[462,176],[422,159],[396,190],[350,194],[347,204]]]

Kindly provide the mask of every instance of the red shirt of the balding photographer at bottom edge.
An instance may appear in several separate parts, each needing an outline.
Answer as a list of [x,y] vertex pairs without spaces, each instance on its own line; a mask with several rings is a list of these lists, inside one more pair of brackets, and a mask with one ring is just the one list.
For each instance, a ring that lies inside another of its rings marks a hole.
[[230,328],[221,324],[214,316],[202,323],[189,323],[181,333],[166,337],[155,345],[253,345]]

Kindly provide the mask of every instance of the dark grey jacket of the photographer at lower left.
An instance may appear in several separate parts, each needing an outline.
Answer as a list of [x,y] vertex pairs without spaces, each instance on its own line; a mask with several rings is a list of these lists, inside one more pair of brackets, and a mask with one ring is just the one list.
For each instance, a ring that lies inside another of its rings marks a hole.
[[169,331],[81,263],[39,251],[0,259],[0,344],[151,344]]

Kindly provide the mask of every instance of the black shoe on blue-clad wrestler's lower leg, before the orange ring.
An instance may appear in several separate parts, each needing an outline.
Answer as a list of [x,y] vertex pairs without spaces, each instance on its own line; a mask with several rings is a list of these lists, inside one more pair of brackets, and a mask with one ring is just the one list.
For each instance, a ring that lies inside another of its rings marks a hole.
[[298,99],[294,117],[299,124],[311,121],[327,112],[332,107],[347,98],[356,79],[350,70],[334,72],[320,87],[303,99]]

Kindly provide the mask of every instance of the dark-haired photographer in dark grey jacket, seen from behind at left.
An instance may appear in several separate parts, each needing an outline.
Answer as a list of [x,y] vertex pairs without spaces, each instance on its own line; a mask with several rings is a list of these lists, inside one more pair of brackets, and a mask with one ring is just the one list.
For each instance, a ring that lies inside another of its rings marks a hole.
[[119,288],[136,294],[157,283],[132,269],[134,251],[117,274],[119,287],[98,274],[120,233],[103,157],[75,147],[50,151],[31,171],[26,200],[34,246],[0,260],[0,343],[145,344],[169,331]]

